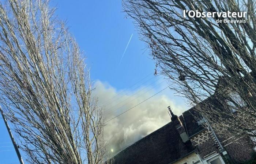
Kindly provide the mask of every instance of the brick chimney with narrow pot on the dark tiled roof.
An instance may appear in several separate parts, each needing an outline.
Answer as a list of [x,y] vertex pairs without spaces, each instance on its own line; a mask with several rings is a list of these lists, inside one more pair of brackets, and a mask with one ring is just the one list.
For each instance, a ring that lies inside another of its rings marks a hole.
[[180,118],[173,114],[172,112],[172,108],[170,106],[168,106],[168,113],[171,116],[171,120],[175,126],[175,128],[177,129],[178,133],[180,134],[180,137],[182,139],[183,142],[188,141],[188,134],[186,133],[185,127],[183,126],[182,122],[180,121]]

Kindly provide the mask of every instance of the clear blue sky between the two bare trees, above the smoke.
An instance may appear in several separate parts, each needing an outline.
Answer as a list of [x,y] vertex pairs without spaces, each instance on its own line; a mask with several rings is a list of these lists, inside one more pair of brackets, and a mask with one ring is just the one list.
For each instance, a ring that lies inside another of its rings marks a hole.
[[144,52],[146,45],[139,40],[132,20],[125,18],[121,1],[54,0],[53,4],[57,4],[57,14],[67,20],[70,32],[84,51],[92,79],[123,89],[154,71],[155,64]]

